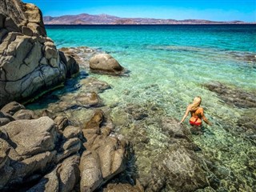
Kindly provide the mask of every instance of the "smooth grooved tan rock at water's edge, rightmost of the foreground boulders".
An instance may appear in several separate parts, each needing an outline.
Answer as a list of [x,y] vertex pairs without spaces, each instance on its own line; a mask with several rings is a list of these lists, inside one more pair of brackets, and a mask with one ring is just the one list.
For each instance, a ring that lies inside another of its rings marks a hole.
[[102,110],[95,112],[82,129],[86,151],[80,162],[81,191],[93,191],[115,174],[126,169],[126,141],[110,137],[111,127],[102,127],[104,114]]

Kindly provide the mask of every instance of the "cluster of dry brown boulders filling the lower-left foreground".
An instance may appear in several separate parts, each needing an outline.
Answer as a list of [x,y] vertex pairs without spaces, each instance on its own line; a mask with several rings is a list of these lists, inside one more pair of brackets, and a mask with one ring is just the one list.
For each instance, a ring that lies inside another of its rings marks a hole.
[[110,136],[101,110],[82,129],[65,117],[18,114],[31,111],[11,102],[0,113],[9,120],[0,126],[1,191],[93,191],[126,169],[128,143]]

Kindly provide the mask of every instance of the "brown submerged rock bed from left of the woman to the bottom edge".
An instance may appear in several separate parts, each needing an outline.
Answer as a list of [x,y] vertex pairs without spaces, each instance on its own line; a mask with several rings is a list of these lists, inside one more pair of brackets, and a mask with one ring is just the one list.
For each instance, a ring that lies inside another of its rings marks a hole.
[[[166,117],[156,102],[130,103],[115,109],[113,119],[129,117],[116,129],[133,145],[138,169],[132,177],[145,191],[194,191],[212,185],[207,179],[212,173],[206,157],[196,153],[200,150],[190,139],[190,130],[177,119]],[[136,118],[144,113],[145,117]]]

